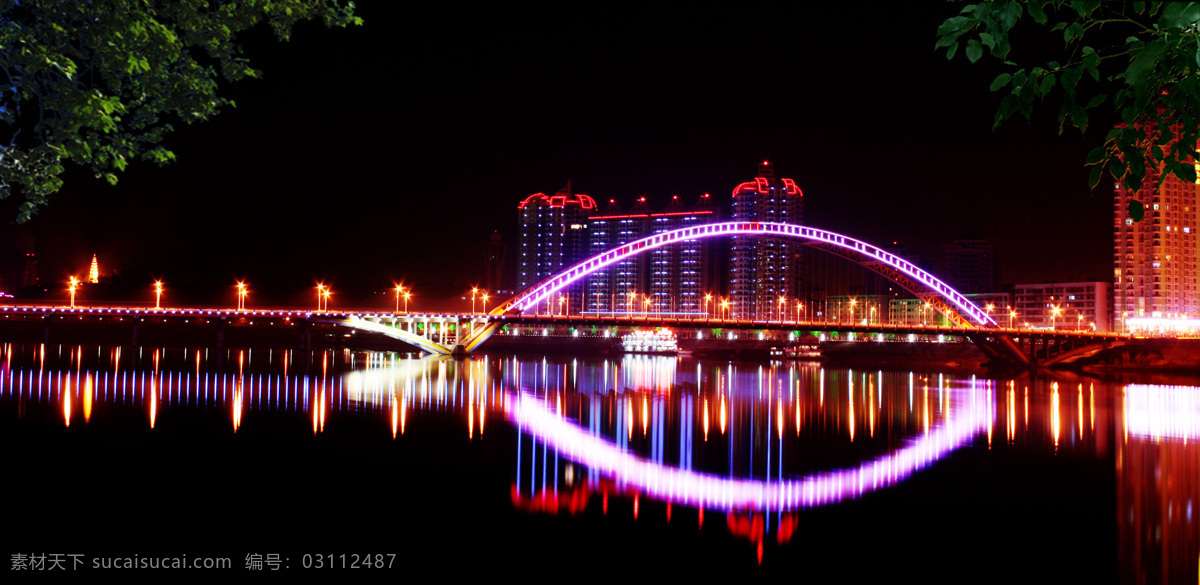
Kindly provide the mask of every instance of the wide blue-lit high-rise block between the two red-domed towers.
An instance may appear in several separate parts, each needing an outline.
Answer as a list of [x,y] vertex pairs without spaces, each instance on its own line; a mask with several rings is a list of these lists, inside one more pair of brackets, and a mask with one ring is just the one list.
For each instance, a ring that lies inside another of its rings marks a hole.
[[[644,197],[629,211],[622,211],[616,200],[610,200],[604,212],[590,218],[588,255],[654,234],[712,223],[718,216],[707,193],[691,209],[684,207],[676,195],[661,212],[650,212]],[[712,284],[709,246],[708,240],[686,240],[593,272],[587,279],[586,310],[702,313]]]

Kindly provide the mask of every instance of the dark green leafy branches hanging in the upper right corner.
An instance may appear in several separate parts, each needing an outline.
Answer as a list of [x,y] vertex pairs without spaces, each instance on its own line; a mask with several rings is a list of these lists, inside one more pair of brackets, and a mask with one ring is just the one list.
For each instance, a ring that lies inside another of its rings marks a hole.
[[[1037,26],[1022,25],[1030,20]],[[1061,56],[1019,62],[1010,58],[1014,31],[1061,35]],[[1147,164],[1157,167],[1151,175],[1196,180],[1198,41],[1200,2],[986,0],[946,19],[935,48],[944,48],[947,59],[961,48],[972,64],[985,55],[1003,64],[991,83],[991,91],[1007,94],[996,125],[1015,114],[1028,119],[1036,103],[1052,96],[1061,101],[1060,132],[1068,122],[1082,132],[1090,113],[1111,108],[1120,123],[1088,153],[1090,182],[1094,188],[1108,169],[1136,192]]]

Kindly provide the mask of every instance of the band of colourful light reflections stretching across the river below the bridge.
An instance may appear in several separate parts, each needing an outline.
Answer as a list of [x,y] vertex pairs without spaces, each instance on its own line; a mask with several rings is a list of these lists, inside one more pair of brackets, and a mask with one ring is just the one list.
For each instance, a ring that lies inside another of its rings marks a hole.
[[[982,404],[959,399],[979,393]],[[1115,513],[1122,571],[1174,581],[1169,575],[1195,574],[1200,550],[1200,514],[1189,513],[1200,494],[1200,402],[1193,386],[1032,376],[991,381],[644,356],[456,361],[340,351],[304,356],[5,344],[0,404],[19,404],[19,410],[0,414],[19,416],[23,424],[48,416],[78,436],[88,436],[77,432],[88,424],[94,426],[90,432],[130,424],[124,412],[138,409],[145,416],[142,424],[172,433],[180,430],[170,427],[181,421],[197,422],[170,416],[185,409],[220,409],[217,422],[233,434],[258,432],[252,428],[270,418],[254,416],[256,410],[300,417],[314,435],[347,429],[326,427],[328,418],[354,418],[355,432],[365,429],[385,442],[406,440],[406,421],[408,440],[416,440],[424,426],[412,422],[425,417],[457,427],[469,441],[499,441],[504,457],[512,448],[517,454],[510,459],[509,495],[521,509],[570,514],[590,508],[640,515],[643,523],[694,526],[702,525],[707,513],[760,550],[786,543],[812,521],[798,515],[804,500],[800,508],[788,509],[782,505],[787,489],[779,488],[869,468],[886,456],[900,458],[911,440],[979,415],[986,423],[964,435],[976,456],[1001,448],[1008,450],[1007,458],[1024,446],[1052,453],[1055,462],[1070,458],[1068,466],[1121,462],[1115,470]],[[973,404],[986,408],[974,410]],[[307,433],[304,426],[299,430]],[[1110,468],[1105,477],[1111,474]],[[679,480],[684,475],[698,477]],[[864,493],[860,486],[875,486],[865,481],[870,476],[850,477],[848,497]],[[706,499],[706,482],[727,490]],[[775,489],[750,490],[744,505],[726,507],[748,484]],[[962,478],[946,489],[972,486]],[[1082,496],[1045,489],[1032,497],[1075,502]],[[986,505],[998,506],[990,500]],[[1146,560],[1145,550],[1153,560]]]

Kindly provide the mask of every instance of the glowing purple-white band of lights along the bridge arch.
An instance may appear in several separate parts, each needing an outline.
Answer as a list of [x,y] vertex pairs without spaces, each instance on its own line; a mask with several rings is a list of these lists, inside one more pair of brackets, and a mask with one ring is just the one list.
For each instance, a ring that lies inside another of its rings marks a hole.
[[948,301],[952,306],[958,307],[959,312],[964,315],[971,318],[972,321],[984,325],[984,326],[996,326],[996,321],[991,319],[990,315],[973,302],[971,302],[961,292],[950,288],[950,285],[940,281],[934,275],[918,269],[912,263],[890,254],[887,251],[866,243],[862,240],[854,240],[850,236],[844,236],[833,231],[827,231],[816,228],[808,228],[804,225],[796,225],[791,223],[773,223],[773,222],[722,222],[722,223],[709,223],[703,225],[691,225],[688,228],[680,228],[672,231],[664,231],[661,234],[655,234],[653,236],[643,237],[641,240],[626,243],[624,246],[618,246],[607,252],[601,252],[592,258],[582,260],[562,272],[553,275],[540,283],[518,292],[509,302],[497,307],[492,310],[493,315],[503,315],[508,313],[516,313],[528,310],[530,308],[538,307],[538,304],[546,298],[550,298],[554,292],[563,288],[571,285],[572,283],[587,277],[588,275],[617,264],[631,255],[641,254],[654,248],[660,248],[662,246],[668,246],[684,240],[696,240],[702,237],[720,237],[720,236],[764,236],[764,237],[790,237],[798,240],[810,240],[815,242],[821,242],[830,246],[835,246],[842,249],[847,249],[869,259],[880,261],[896,271],[904,273],[905,276],[912,278],[917,283],[924,285],[926,289],[935,292],[937,296]]

